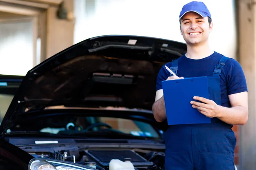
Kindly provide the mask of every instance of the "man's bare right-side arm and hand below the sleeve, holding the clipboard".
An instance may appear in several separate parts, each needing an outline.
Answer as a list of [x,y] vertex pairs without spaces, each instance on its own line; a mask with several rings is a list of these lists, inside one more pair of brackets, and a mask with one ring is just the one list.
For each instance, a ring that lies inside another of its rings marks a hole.
[[204,102],[191,101],[192,107],[207,117],[216,117],[230,125],[245,125],[248,120],[247,92],[229,95],[231,108],[217,105],[215,102],[203,97],[195,96],[194,99]]

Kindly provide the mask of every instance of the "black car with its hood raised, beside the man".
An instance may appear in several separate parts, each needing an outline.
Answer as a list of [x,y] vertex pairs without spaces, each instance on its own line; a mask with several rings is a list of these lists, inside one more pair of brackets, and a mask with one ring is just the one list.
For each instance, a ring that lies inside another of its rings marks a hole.
[[0,169],[108,170],[118,159],[137,170],[163,170],[167,123],[151,111],[156,78],[184,53],[181,42],[101,36],[24,77],[0,76]]

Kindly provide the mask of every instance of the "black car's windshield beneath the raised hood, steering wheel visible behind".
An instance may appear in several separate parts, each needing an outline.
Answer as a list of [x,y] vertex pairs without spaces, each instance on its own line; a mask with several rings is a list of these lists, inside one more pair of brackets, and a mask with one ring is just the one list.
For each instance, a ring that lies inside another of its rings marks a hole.
[[83,117],[45,117],[33,119],[31,122],[23,122],[9,129],[12,131],[38,131],[59,135],[77,135],[79,133],[96,133],[97,135],[106,135],[115,133],[116,135],[142,136],[149,138],[160,138],[157,129],[151,124],[115,117],[103,116],[83,116]]

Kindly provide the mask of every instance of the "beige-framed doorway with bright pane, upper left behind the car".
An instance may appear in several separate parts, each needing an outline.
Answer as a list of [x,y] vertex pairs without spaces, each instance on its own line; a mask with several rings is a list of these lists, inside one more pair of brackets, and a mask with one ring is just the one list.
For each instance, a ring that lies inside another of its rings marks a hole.
[[24,76],[46,58],[49,7],[43,2],[0,0],[0,74]]

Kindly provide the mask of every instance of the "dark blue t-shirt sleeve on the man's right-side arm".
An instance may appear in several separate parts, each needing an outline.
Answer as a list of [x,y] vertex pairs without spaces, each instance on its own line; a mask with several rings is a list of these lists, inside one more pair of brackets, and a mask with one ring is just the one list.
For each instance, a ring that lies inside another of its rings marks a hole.
[[232,59],[227,69],[227,94],[236,94],[247,91],[244,71],[235,59]]

